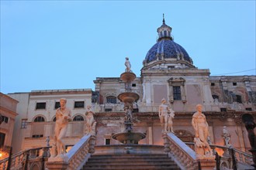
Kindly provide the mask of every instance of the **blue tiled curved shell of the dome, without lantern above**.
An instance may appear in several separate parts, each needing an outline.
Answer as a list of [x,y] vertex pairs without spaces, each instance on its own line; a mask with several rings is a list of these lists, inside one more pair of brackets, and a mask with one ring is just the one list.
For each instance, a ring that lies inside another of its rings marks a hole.
[[192,64],[192,59],[185,49],[171,39],[162,39],[154,44],[154,46],[147,52],[145,62],[150,63],[151,61],[157,60],[157,56],[161,55],[164,56],[164,59],[182,59]]

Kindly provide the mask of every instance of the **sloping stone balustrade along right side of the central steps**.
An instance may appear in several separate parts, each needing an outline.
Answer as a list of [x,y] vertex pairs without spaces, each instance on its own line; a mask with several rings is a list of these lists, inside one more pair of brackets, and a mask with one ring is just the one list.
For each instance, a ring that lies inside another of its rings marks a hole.
[[195,159],[195,151],[185,145],[175,134],[163,134],[164,151],[181,169],[198,169],[198,162]]

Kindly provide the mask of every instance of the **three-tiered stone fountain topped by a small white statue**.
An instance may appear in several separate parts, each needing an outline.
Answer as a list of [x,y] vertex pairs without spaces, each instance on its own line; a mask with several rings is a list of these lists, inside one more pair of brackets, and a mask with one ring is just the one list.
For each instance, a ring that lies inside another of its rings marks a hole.
[[133,131],[133,103],[139,100],[140,96],[137,93],[132,92],[131,83],[135,80],[136,75],[130,70],[130,61],[126,57],[126,71],[121,74],[120,79],[125,82],[125,92],[118,95],[118,99],[123,102],[125,110],[124,125],[125,130],[120,133],[112,135],[113,139],[129,145],[138,144],[141,139],[146,137],[146,134]]

